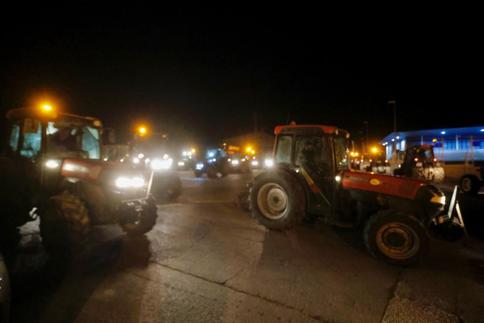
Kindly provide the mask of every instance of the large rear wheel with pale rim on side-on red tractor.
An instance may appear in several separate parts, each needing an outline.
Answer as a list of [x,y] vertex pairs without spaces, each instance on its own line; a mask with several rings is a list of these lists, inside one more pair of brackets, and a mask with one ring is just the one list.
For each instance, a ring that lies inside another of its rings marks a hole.
[[287,230],[306,216],[306,194],[293,174],[267,171],[254,180],[250,208],[260,224],[272,230]]

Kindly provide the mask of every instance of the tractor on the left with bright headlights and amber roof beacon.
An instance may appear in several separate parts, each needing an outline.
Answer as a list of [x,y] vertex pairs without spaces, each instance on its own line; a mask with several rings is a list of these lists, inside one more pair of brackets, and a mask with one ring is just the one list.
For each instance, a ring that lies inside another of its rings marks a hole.
[[119,223],[130,234],[151,230],[153,173],[105,161],[99,120],[50,108],[10,110],[7,119],[0,236],[40,216],[46,250],[71,257],[89,241],[93,225]]

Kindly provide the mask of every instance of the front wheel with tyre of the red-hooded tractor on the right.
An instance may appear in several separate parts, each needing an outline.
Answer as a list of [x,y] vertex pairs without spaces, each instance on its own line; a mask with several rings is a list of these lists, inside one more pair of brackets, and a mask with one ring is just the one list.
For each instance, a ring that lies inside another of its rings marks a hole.
[[417,263],[427,253],[427,230],[417,218],[396,210],[384,210],[366,222],[364,242],[379,260],[401,266]]

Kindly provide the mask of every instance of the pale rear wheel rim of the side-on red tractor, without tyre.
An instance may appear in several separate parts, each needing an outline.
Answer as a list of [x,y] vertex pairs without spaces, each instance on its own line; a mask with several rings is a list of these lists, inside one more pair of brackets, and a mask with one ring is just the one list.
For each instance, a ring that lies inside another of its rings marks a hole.
[[264,184],[257,193],[257,205],[266,217],[277,220],[286,214],[288,206],[287,193],[281,185]]

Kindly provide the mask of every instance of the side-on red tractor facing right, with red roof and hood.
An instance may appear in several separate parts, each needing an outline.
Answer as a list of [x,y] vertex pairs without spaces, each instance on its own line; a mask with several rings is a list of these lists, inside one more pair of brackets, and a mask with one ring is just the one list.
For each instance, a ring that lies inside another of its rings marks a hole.
[[314,217],[345,228],[364,225],[375,257],[411,265],[428,249],[427,228],[452,225],[439,216],[445,197],[436,186],[349,169],[345,130],[282,125],[274,133],[274,169],[257,176],[249,191],[252,215],[267,228],[287,230]]

